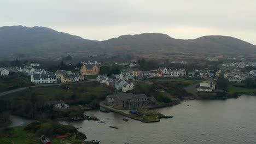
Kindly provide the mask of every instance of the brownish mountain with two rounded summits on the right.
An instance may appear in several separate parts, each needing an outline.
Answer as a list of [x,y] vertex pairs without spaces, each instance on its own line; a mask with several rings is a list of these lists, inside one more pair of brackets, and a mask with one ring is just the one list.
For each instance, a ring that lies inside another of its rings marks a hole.
[[179,53],[256,53],[255,46],[246,41],[219,35],[204,36],[197,39],[174,39],[166,34],[143,33],[123,35],[101,41],[98,48],[108,51],[137,52],[179,52]]

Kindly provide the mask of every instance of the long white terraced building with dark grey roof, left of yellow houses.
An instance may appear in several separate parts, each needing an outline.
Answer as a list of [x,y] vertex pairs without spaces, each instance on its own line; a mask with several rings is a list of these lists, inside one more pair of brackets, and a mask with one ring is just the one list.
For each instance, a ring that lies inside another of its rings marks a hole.
[[32,74],[31,82],[36,84],[41,83],[56,83],[57,79],[55,74]]

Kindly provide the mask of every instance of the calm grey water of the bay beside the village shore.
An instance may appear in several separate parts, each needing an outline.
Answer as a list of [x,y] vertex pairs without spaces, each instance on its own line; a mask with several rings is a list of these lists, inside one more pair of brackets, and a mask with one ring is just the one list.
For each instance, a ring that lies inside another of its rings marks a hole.
[[[243,95],[228,100],[189,100],[158,109],[174,116],[158,123],[142,123],[116,113],[86,112],[106,121],[70,123],[88,140],[104,143],[256,143],[256,97]],[[119,129],[109,128],[116,126]],[[81,127],[81,128],[80,128]]]

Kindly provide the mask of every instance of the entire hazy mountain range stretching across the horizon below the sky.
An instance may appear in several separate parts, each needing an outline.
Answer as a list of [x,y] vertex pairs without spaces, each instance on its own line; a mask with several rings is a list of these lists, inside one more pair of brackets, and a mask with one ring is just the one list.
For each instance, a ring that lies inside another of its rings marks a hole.
[[[184,53],[188,55],[249,55],[256,46],[246,41],[209,35],[174,39],[166,34],[122,35],[104,41],[83,39],[46,27],[0,27],[0,57],[60,57],[67,52],[88,56],[99,53]],[[85,55],[86,54],[86,55]]]

